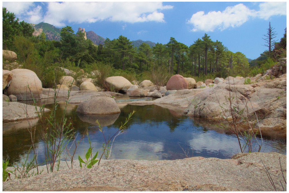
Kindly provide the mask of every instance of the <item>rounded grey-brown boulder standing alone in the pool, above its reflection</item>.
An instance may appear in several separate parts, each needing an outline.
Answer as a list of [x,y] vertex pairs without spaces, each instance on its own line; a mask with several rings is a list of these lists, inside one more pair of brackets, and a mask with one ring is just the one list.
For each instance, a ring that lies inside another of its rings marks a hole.
[[78,105],[76,112],[82,114],[116,114],[121,110],[114,99],[107,96],[94,97]]

